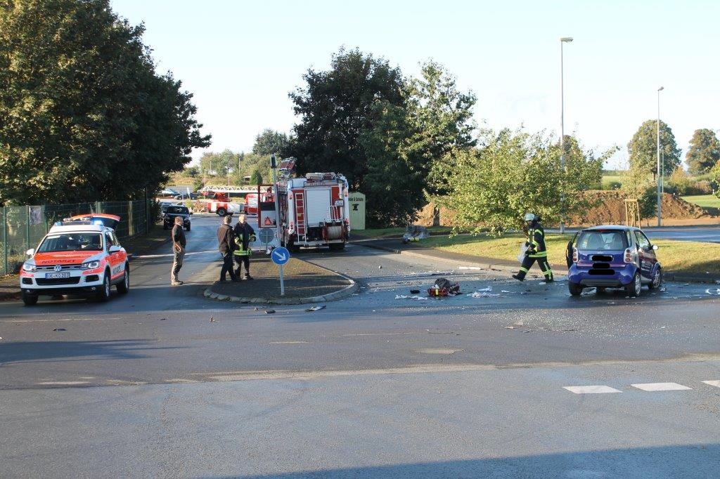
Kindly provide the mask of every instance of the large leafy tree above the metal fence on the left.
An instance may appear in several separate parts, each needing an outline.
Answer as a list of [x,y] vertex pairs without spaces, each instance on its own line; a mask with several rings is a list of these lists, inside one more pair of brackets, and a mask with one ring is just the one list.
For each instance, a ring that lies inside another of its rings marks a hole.
[[128,199],[209,145],[108,0],[0,1],[0,203]]

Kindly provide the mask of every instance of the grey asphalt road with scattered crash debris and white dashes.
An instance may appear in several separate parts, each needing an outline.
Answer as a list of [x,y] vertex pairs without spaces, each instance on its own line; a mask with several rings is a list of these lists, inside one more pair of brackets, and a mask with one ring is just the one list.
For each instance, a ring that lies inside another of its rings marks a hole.
[[[351,245],[300,255],[361,293],[265,314],[202,298],[216,224],[194,219],[184,286],[168,286],[168,247],[134,260],[130,294],[107,304],[0,304],[0,476],[708,477],[720,465],[708,285],[572,298],[562,281]],[[396,298],[438,276],[464,294]]]

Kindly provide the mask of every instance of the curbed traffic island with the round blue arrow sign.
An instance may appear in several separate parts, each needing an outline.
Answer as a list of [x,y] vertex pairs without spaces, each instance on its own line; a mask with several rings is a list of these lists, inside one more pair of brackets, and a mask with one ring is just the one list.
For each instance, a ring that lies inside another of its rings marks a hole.
[[[217,267],[220,275],[220,264]],[[285,294],[280,295],[279,266],[264,255],[250,260],[253,280],[216,281],[206,298],[253,304],[305,304],[333,301],[358,291],[358,284],[334,271],[291,257],[283,266]]]

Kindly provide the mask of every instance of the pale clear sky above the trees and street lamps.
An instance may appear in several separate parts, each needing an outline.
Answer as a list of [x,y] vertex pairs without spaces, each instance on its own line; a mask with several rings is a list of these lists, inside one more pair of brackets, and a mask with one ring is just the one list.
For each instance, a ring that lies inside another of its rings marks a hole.
[[[307,68],[359,47],[406,76],[432,58],[477,95],[485,127],[559,134],[560,37],[565,132],[586,148],[621,147],[660,117],[687,150],[693,131],[720,129],[717,1],[111,0],[145,23],[158,71],[194,93],[211,151],[249,151],[262,129],[297,121],[287,93]],[[201,151],[194,152],[199,158]]]

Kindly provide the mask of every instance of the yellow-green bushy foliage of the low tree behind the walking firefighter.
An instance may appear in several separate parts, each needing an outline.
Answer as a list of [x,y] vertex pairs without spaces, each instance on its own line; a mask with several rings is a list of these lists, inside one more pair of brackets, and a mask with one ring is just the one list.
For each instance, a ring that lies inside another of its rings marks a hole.
[[[565,214],[577,214],[588,204],[581,191],[600,181],[602,165],[614,152],[600,158],[583,152],[572,139],[565,155],[566,170],[559,168],[560,148],[541,134],[503,129],[485,130],[482,149],[449,152],[454,168],[445,177],[449,188],[440,206],[456,211],[462,229],[482,227],[499,234],[522,226],[523,214],[539,214],[546,224]],[[561,204],[561,193],[564,202]]]

